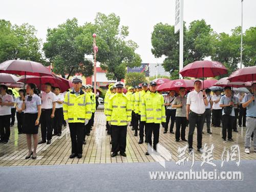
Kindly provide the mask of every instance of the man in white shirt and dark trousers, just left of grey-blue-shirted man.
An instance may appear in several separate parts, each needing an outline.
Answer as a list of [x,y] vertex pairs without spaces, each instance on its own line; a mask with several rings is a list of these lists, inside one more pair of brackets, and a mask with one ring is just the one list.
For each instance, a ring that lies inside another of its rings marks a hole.
[[221,127],[221,117],[222,117],[222,108],[220,107],[220,100],[221,100],[221,91],[215,91],[214,96],[211,98],[212,100],[212,117],[214,127]]

